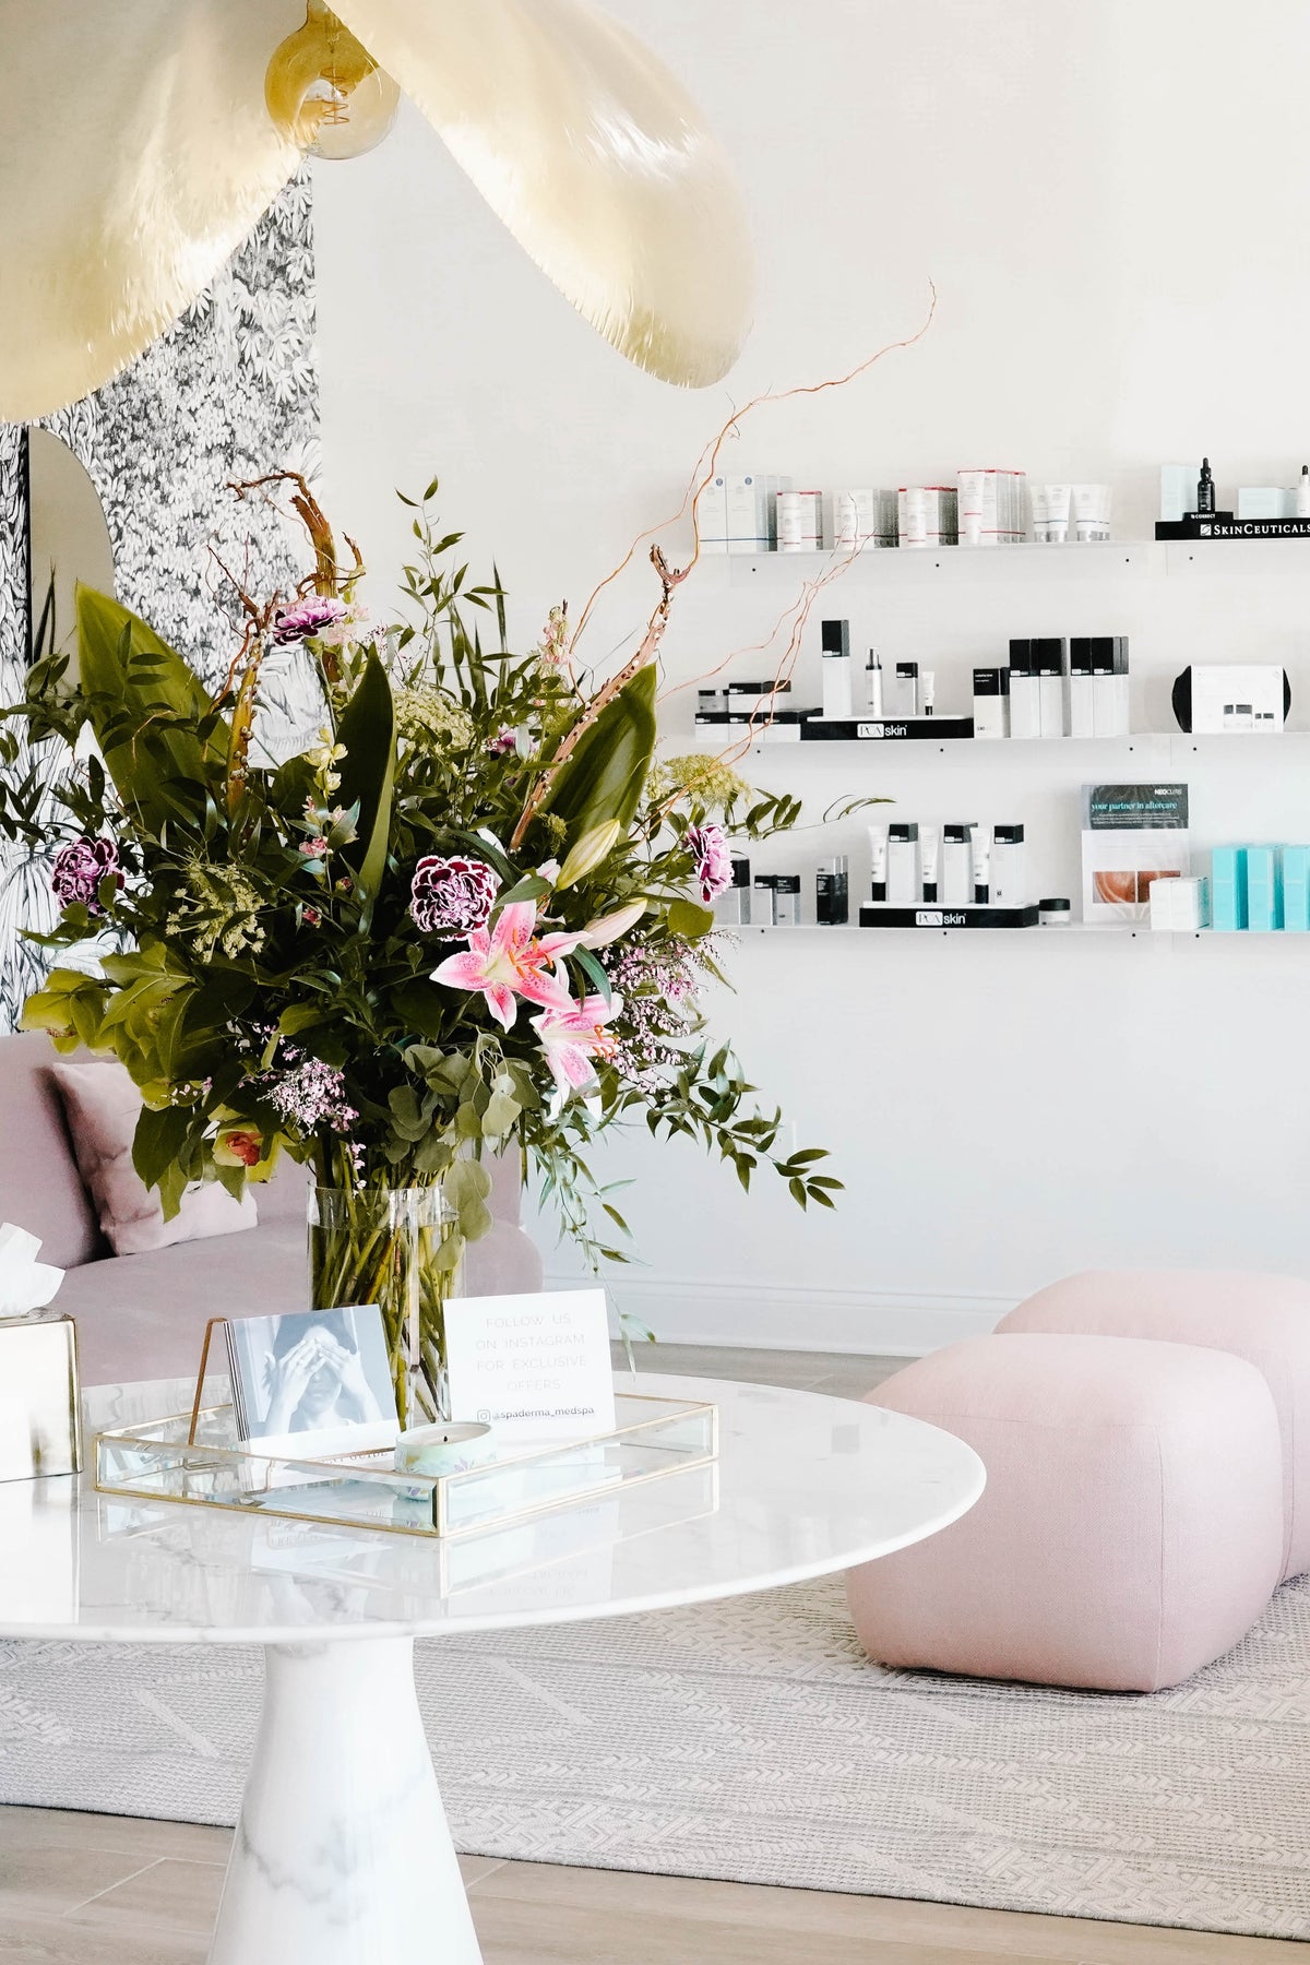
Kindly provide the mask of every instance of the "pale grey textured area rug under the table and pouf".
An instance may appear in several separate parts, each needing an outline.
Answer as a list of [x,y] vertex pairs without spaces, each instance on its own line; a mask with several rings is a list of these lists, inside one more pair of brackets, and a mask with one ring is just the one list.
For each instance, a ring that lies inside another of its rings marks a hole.
[[[428,1643],[418,1690],[467,1853],[1310,1937],[1310,1580],[1149,1698],[884,1672],[839,1582]],[[0,1643],[0,1802],[232,1822],[257,1708],[251,1651]]]

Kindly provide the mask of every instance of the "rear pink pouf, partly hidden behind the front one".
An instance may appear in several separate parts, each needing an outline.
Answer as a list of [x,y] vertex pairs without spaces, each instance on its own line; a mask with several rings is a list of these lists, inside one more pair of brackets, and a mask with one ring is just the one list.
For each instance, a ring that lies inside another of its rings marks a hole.
[[1283,1432],[1283,1574],[1310,1570],[1310,1283],[1202,1269],[1088,1269],[1039,1289],[1002,1330],[1165,1338],[1249,1358]]

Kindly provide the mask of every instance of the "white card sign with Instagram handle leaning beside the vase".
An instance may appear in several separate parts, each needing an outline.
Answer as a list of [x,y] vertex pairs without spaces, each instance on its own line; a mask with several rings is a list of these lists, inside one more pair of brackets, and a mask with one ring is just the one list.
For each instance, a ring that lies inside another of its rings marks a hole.
[[456,1297],[446,1305],[450,1417],[509,1440],[583,1440],[615,1429],[603,1289]]

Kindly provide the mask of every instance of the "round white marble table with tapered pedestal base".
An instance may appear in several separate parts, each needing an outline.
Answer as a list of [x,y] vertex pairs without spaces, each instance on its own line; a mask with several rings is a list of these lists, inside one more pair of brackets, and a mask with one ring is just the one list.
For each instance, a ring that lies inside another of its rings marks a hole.
[[[640,1387],[713,1399],[719,1462],[603,1497],[585,1533],[577,1509],[542,1515],[485,1578],[409,1537],[126,1503],[90,1474],[31,1484],[0,1637],[265,1647],[210,1965],[477,1965],[414,1637],[780,1588],[905,1548],[982,1493],[962,1440],[900,1413],[719,1379],[642,1374]],[[181,1411],[179,1391],[98,1387],[90,1429]]]

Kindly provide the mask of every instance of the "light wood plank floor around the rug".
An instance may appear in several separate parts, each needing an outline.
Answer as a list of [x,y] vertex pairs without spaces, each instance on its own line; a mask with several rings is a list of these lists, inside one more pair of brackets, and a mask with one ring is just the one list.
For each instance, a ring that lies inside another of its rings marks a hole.
[[[858,1397],[898,1360],[642,1346],[638,1368]],[[0,1808],[0,1965],[202,1965],[228,1829]],[[1275,1965],[1300,1943],[464,1859],[485,1965]]]

